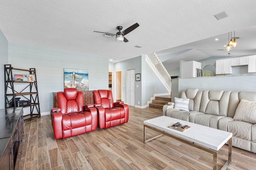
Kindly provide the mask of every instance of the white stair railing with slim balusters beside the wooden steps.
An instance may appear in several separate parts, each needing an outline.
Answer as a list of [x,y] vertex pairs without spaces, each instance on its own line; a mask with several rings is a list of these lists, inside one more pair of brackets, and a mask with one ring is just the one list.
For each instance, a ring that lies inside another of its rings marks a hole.
[[171,92],[171,76],[167,72],[166,68],[156,55],[156,53],[150,53],[146,55],[146,62],[152,68],[156,76],[162,82],[166,90],[170,93]]

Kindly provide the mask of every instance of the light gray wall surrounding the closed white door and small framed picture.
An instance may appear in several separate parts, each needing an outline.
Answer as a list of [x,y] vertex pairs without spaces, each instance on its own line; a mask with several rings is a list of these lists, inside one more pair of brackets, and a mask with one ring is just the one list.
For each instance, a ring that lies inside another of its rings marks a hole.
[[[135,69],[135,74],[141,73],[141,56],[114,63],[114,70],[122,70],[122,101],[126,103],[126,71]],[[142,80],[142,74],[140,78]],[[138,88],[137,88],[138,85]],[[135,81],[135,105],[141,106],[141,81]],[[140,102],[140,104],[138,104]]]

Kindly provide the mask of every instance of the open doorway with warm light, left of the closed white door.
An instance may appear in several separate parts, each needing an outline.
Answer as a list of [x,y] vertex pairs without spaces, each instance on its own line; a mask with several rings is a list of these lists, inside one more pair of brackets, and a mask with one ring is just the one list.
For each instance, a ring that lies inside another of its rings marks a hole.
[[122,71],[114,72],[114,102],[122,101]]

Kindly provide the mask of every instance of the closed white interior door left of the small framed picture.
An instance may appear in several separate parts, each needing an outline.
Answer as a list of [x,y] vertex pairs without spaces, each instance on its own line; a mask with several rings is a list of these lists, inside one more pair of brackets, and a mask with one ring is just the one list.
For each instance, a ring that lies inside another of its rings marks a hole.
[[129,106],[135,106],[135,69],[127,70],[126,102]]

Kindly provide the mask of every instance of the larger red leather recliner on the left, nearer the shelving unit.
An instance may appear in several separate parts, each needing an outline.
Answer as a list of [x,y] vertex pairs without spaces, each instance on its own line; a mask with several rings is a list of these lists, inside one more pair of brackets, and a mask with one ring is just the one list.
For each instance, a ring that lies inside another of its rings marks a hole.
[[55,139],[64,139],[97,129],[97,109],[84,106],[84,96],[76,88],[65,88],[58,92],[59,108],[51,110],[52,127]]

